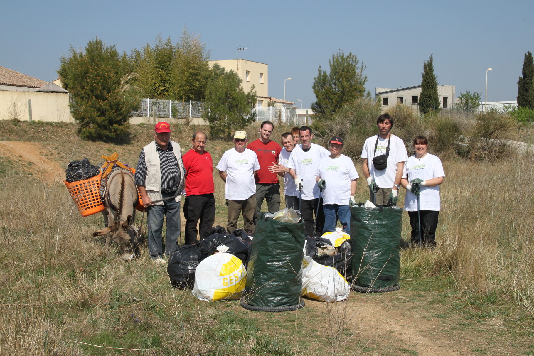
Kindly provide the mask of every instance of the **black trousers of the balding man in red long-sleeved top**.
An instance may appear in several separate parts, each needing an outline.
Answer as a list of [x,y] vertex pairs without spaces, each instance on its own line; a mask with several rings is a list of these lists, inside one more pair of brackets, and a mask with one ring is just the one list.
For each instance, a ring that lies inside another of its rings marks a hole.
[[[185,233],[184,243],[189,245],[197,242],[200,230],[200,240],[209,236],[215,221],[215,197],[213,193],[187,195],[184,203]],[[200,219],[200,229],[197,224]]]

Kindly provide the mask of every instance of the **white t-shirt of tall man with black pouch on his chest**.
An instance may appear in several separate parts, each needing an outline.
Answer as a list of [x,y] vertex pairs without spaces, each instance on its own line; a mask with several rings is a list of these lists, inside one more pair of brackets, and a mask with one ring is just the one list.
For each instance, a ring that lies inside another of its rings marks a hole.
[[[408,153],[404,141],[395,135],[390,135],[390,138],[379,137],[378,145],[376,145],[376,153],[374,153],[374,145],[376,144],[376,137],[372,136],[365,140],[364,148],[362,150],[362,158],[367,159],[367,167],[371,173],[371,178],[374,179],[376,185],[380,188],[391,188],[395,184],[395,174],[397,173],[397,163],[406,162]],[[373,164],[373,158],[386,154],[386,148],[389,144],[388,167],[382,170],[376,170]],[[373,154],[374,153],[374,154]]]

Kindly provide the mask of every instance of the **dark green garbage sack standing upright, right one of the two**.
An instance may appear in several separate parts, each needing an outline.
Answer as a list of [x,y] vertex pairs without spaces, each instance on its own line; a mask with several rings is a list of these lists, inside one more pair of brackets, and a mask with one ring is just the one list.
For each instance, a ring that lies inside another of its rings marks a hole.
[[397,286],[403,209],[387,205],[366,208],[360,203],[350,207],[350,212],[349,241],[355,286],[377,291]]

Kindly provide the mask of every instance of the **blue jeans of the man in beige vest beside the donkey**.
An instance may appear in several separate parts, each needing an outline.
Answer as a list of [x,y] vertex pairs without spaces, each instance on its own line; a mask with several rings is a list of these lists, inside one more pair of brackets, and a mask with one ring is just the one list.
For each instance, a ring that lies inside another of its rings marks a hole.
[[[163,198],[174,194],[162,194]],[[150,258],[163,257],[162,236],[163,217],[167,217],[167,232],[165,233],[165,256],[169,256],[174,250],[180,235],[180,202],[174,198],[164,200],[163,205],[150,205],[147,212],[148,228],[148,254]]]

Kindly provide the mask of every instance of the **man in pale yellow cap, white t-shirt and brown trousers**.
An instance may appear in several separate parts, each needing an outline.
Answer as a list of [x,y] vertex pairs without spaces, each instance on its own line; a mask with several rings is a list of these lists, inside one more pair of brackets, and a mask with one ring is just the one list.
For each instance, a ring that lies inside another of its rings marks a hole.
[[254,232],[256,212],[256,182],[254,178],[260,169],[258,157],[247,147],[247,133],[235,131],[234,148],[230,148],[217,164],[219,176],[226,183],[224,197],[228,207],[226,231],[231,234],[237,228],[239,214],[243,213],[245,230]]

